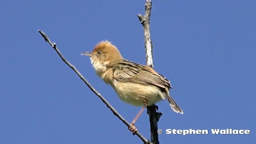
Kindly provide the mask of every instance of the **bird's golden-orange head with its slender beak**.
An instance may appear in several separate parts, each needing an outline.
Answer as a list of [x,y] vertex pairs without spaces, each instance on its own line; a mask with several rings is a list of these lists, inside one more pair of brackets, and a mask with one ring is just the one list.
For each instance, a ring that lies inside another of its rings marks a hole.
[[83,52],[82,55],[90,56],[93,65],[115,64],[123,60],[116,46],[107,40],[98,43],[92,52]]

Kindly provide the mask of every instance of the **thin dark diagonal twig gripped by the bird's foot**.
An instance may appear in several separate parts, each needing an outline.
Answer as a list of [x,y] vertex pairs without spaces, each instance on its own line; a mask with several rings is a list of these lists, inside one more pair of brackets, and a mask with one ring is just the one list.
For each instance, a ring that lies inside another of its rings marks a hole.
[[[84,76],[82,76],[82,74],[72,65],[70,64],[70,62],[68,62],[60,53],[60,51],[58,50],[57,46],[55,43],[52,43],[51,40],[48,38],[48,36],[46,36],[46,34],[44,32],[42,32],[41,30],[38,30],[38,32],[42,35],[42,37],[44,38],[44,40],[46,42],[48,42],[52,48],[54,48],[54,50],[58,53],[58,55],[60,56],[60,58],[70,67],[72,68],[72,70],[74,70],[74,72],[76,72],[76,74],[82,79],[82,81],[84,81],[84,83],[92,90],[92,92],[94,92],[94,94],[96,94],[96,96],[98,96],[100,98],[100,100],[102,100],[102,102],[104,104],[106,104],[106,106],[113,112],[113,114],[115,116],[117,116],[126,126],[128,126],[128,128],[131,128],[131,125],[129,122],[127,122],[127,120],[125,120],[109,103],[108,101],[97,91],[95,90],[90,83],[84,78]],[[142,136],[139,132],[136,132],[136,135],[144,142],[144,144],[152,144],[151,142],[149,142],[146,138],[144,138],[144,136]]]

